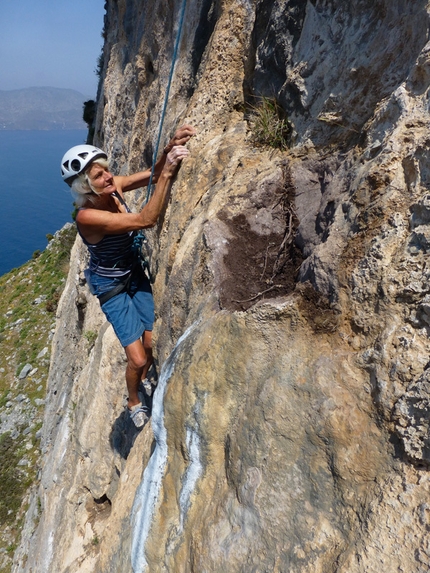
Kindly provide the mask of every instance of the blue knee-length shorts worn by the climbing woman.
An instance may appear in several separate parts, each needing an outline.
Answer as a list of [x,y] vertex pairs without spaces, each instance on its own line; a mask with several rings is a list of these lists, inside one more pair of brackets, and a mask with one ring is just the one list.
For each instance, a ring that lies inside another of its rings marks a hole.
[[[95,295],[111,290],[120,281],[91,273],[91,286]],[[128,291],[112,297],[101,308],[121,345],[125,347],[135,342],[145,330],[152,330],[154,324],[154,300],[148,277],[139,272],[133,276]]]

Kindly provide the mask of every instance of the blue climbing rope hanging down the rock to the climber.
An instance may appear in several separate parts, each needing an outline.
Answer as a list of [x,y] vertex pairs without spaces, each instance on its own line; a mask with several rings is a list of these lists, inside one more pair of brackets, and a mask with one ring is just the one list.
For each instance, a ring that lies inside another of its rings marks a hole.
[[[172,84],[172,79],[173,79],[173,72],[175,69],[176,60],[178,58],[179,42],[180,42],[181,35],[182,35],[182,26],[184,23],[186,5],[187,5],[187,0],[182,0],[182,5],[181,5],[181,9],[180,9],[180,14],[179,14],[178,31],[176,33],[176,41],[175,41],[175,46],[173,49],[172,65],[170,67],[170,74],[169,74],[169,79],[167,82],[166,93],[164,96],[163,109],[162,109],[161,116],[160,116],[160,122],[158,124],[158,137],[157,137],[157,141],[156,141],[156,144],[154,147],[154,153],[152,155],[151,175],[149,177],[148,189],[146,192],[146,198],[145,198],[144,204],[148,203],[148,201],[152,195],[152,180],[154,178],[155,162],[157,161],[158,150],[160,147],[161,134],[163,131],[164,118],[166,116],[167,103],[169,100],[169,93],[170,93],[170,86]],[[141,208],[143,208],[143,206]],[[136,233],[136,236],[134,238],[132,250],[135,254],[137,253],[136,256],[139,257],[141,264],[146,269],[146,272],[149,273],[150,272],[149,271],[149,256],[144,256],[142,253],[142,248],[143,248],[143,245],[145,243],[146,243],[146,245],[148,245],[148,240],[147,240],[144,232],[142,230],[139,230]]]

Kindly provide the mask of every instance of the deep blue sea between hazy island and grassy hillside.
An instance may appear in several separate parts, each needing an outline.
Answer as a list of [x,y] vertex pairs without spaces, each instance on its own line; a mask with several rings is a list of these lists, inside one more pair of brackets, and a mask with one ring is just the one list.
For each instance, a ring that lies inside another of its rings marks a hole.
[[72,221],[70,189],[61,178],[64,153],[87,131],[0,130],[0,276],[30,260]]

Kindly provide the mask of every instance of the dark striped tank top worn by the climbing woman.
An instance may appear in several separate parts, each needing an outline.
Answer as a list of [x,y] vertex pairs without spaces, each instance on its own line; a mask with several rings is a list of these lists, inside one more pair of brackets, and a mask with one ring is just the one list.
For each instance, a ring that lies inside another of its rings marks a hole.
[[[124,205],[127,213],[131,213],[124,199],[119,193],[113,195]],[[89,243],[82,236],[79,225],[79,235],[90,252],[89,269],[102,277],[123,277],[131,271],[133,265],[133,240],[135,231],[128,231],[120,235],[105,235],[98,243]]]

